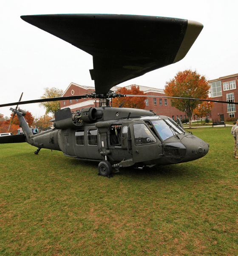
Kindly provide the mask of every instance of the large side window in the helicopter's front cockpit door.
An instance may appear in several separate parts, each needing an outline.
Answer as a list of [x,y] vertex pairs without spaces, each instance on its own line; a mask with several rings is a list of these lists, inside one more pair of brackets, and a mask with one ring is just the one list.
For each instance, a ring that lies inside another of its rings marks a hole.
[[156,143],[156,138],[145,124],[134,124],[133,127],[136,145]]

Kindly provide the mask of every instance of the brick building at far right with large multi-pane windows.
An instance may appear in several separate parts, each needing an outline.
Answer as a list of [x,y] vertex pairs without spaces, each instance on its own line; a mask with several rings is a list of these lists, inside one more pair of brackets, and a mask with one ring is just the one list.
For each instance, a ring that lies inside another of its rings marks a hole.
[[226,121],[229,117],[236,117],[237,105],[232,102],[238,101],[238,74],[219,77],[209,81],[211,84],[212,100],[229,101],[231,104],[214,103],[211,111],[212,119],[218,121]]

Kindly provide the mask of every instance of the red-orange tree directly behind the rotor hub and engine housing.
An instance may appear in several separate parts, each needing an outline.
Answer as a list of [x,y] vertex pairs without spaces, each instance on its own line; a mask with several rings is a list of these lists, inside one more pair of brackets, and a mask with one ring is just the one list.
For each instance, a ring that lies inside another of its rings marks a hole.
[[[139,86],[133,84],[131,89],[127,89],[126,87],[119,88],[119,92],[122,94],[131,94],[131,95],[146,95],[142,90],[139,90]],[[121,105],[123,102],[124,108],[145,108],[145,99],[147,97],[119,97],[113,99],[113,107]]]

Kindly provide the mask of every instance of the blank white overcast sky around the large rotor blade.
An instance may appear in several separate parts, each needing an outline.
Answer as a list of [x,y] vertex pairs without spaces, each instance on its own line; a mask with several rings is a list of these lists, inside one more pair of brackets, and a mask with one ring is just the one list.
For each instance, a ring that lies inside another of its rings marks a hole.
[[[216,79],[238,73],[237,0],[0,0],[0,104],[39,99],[45,87],[65,90],[71,82],[94,86],[92,56],[23,21],[21,15],[105,13],[195,20],[204,25],[185,58],[120,84],[164,88],[178,71],[191,68]],[[10,116],[10,107],[0,113]],[[22,105],[33,116],[39,105]]]

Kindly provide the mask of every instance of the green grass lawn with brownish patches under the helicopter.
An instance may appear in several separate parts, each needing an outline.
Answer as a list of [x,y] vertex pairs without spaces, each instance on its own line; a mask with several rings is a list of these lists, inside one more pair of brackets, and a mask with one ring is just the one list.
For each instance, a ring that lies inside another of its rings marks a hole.
[[97,176],[96,162],[0,145],[0,255],[238,255],[230,127],[193,162]]

